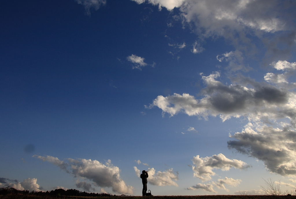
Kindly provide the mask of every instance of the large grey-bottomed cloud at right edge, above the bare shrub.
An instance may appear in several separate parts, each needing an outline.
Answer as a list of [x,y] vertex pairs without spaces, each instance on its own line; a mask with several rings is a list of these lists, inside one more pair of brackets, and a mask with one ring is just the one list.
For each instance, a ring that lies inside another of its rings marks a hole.
[[271,126],[255,127],[247,124],[242,132],[230,137],[228,147],[262,160],[266,168],[282,176],[296,175],[296,131],[288,127],[281,130]]

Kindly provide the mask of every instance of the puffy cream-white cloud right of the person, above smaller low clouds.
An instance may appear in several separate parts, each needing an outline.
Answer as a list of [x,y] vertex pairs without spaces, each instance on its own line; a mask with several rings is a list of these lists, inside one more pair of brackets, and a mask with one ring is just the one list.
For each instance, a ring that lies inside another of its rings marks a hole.
[[231,168],[246,169],[250,167],[245,162],[228,159],[223,154],[213,155],[212,157],[200,158],[199,155],[193,157],[192,170],[194,171],[194,177],[201,179],[203,182],[212,179],[211,176],[216,175],[213,169],[221,169],[222,171],[228,171]]

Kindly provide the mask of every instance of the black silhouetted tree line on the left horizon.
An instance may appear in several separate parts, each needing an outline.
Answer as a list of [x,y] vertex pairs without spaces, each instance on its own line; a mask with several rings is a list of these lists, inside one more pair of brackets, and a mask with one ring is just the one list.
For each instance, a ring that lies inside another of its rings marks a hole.
[[0,195],[8,195],[8,194],[19,194],[19,195],[38,195],[38,196],[87,196],[87,197],[108,197],[113,196],[109,193],[88,193],[88,192],[82,192],[76,189],[56,189],[51,191],[31,191],[28,190],[16,190],[12,187],[5,187],[0,188]]

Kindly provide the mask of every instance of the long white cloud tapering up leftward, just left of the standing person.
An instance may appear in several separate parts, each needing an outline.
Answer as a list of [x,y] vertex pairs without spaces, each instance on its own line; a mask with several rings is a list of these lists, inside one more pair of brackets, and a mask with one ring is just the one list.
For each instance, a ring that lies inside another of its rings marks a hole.
[[[66,161],[60,161],[52,156],[33,156],[43,161],[48,161],[67,173],[71,173],[74,177],[86,178],[98,187],[112,187],[114,192],[120,194],[133,194],[133,187],[127,186],[120,178],[120,169],[111,164],[108,160],[105,164],[97,160],[86,160],[67,158]],[[79,184],[79,186],[83,186]],[[86,186],[89,186],[86,184]]]

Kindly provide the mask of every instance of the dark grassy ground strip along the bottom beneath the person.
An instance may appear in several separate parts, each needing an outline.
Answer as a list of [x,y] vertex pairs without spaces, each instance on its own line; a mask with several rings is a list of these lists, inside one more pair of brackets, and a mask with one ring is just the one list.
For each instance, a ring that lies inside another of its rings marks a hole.
[[36,196],[36,195],[0,195],[0,199],[290,199],[295,195],[200,195],[200,196],[111,196],[111,197],[77,197],[77,196]]

